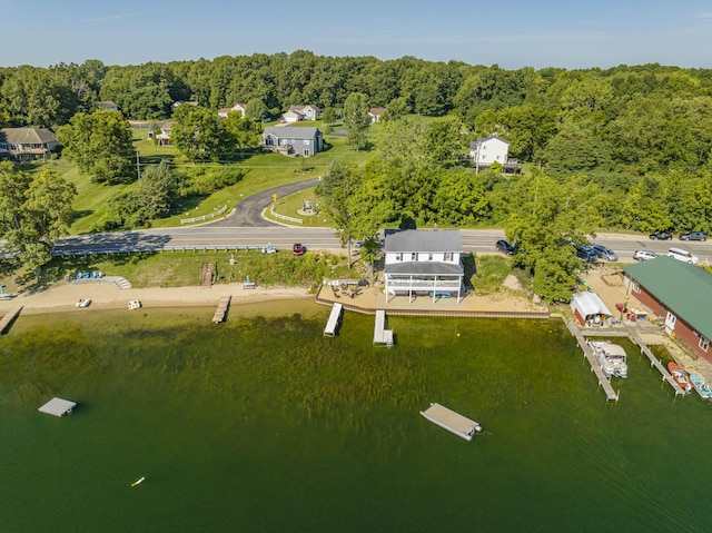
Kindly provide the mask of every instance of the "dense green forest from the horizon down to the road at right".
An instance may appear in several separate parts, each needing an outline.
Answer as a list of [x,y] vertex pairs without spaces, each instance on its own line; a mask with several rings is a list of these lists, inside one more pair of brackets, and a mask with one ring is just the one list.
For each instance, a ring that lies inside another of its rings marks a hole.
[[[339,179],[349,190],[337,206],[354,226],[348,235],[383,224],[501,226],[526,246],[520,260],[534,270],[541,257],[561,256],[561,239],[584,241],[601,228],[712,230],[708,69],[505,70],[304,50],[138,66],[87,60],[0,68],[0,127],[90,124],[86,117],[102,100],[136,120],[169,118],[171,103],[186,100],[208,115],[245,102],[255,124],[290,105],[335,117],[355,95],[386,108],[387,121],[354,147],[370,152],[367,164],[330,169],[328,190]],[[492,134],[510,141],[522,175],[475,172],[464,160],[472,140]],[[169,172],[157,174],[164,187],[181,182]]]

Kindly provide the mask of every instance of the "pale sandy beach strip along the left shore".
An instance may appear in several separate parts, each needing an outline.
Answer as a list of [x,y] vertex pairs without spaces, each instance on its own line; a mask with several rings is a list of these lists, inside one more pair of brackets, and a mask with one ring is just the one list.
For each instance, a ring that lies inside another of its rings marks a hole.
[[65,313],[76,309],[79,299],[91,299],[88,309],[127,309],[129,300],[141,302],[144,308],[216,306],[222,296],[231,296],[233,305],[279,299],[306,299],[315,295],[306,287],[256,287],[245,289],[240,283],[211,287],[148,287],[121,289],[111,284],[72,284],[58,282],[36,293],[19,294],[0,300],[0,315],[22,306],[22,314]]

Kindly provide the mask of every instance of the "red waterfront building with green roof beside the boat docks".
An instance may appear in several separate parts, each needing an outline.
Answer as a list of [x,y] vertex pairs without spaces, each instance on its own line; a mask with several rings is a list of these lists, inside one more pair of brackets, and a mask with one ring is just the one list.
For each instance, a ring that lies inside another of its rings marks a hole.
[[629,294],[663,320],[665,333],[712,363],[712,274],[671,257],[629,265],[623,272]]

